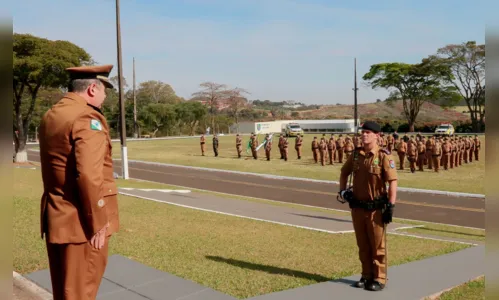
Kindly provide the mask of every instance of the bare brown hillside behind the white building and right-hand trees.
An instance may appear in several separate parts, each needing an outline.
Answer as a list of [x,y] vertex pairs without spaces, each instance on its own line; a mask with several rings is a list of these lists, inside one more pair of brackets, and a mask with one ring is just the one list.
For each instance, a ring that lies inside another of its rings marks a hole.
[[[378,119],[386,121],[405,122],[404,108],[402,101],[396,101],[388,105],[386,102],[358,104],[357,112],[361,120]],[[327,105],[319,109],[300,111],[300,119],[350,119],[354,116],[353,105]],[[424,103],[421,107],[417,122],[452,122],[467,121],[469,116],[455,111],[452,108],[443,109],[442,107]]]

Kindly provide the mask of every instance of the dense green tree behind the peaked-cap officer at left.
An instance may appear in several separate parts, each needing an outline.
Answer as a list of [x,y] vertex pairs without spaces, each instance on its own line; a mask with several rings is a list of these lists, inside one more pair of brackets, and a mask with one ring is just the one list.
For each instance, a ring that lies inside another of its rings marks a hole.
[[[26,162],[26,141],[41,88],[65,87],[68,67],[91,64],[90,55],[68,41],[51,41],[30,34],[14,34],[14,142],[16,162]],[[22,108],[25,109],[22,109]]]

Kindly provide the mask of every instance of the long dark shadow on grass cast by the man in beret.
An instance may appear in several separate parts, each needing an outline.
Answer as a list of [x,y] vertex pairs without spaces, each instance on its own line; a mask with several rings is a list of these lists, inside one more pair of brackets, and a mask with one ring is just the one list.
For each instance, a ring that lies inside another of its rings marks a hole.
[[327,278],[327,277],[324,277],[324,276],[318,275],[318,274],[311,274],[311,273],[297,271],[297,270],[273,267],[273,266],[263,265],[263,264],[256,264],[256,263],[251,263],[251,262],[232,259],[232,258],[223,258],[220,256],[210,256],[210,255],[207,255],[206,258],[213,260],[213,261],[216,261],[216,262],[226,263],[226,264],[230,264],[230,265],[240,267],[240,268],[267,272],[269,274],[298,277],[298,278],[313,280],[316,282],[323,282],[323,281],[330,281],[331,280],[331,278]]

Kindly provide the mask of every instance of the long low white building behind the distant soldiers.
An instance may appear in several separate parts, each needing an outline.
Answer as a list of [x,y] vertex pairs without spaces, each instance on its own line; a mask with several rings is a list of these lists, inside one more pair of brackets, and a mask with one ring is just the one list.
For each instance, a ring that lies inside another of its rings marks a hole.
[[[299,124],[304,133],[353,133],[354,119],[345,120],[284,120],[271,122],[240,122],[230,127],[231,133],[281,133],[289,123]],[[360,120],[357,120],[357,125]]]

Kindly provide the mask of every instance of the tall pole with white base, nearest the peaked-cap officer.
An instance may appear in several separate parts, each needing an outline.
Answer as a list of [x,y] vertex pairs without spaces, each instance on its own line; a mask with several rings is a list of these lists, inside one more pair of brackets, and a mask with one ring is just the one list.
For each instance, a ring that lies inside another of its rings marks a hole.
[[123,68],[121,65],[120,0],[116,0],[116,38],[118,48],[118,85],[120,103],[121,171],[123,179],[128,179],[128,158],[126,148],[125,101],[123,99]]

